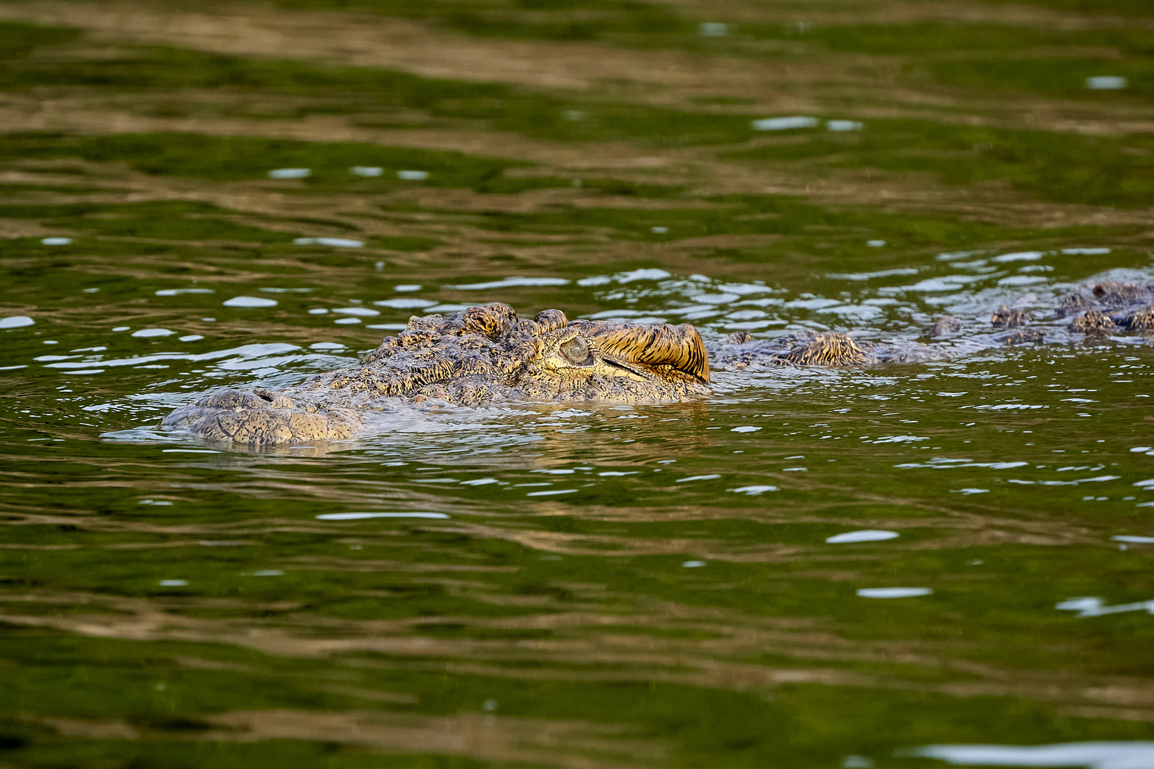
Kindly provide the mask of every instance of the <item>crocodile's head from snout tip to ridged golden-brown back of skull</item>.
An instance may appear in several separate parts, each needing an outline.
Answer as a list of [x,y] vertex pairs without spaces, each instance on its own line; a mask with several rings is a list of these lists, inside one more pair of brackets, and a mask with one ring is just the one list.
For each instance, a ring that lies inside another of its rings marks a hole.
[[254,446],[346,438],[385,400],[474,406],[492,400],[675,402],[709,392],[705,346],[690,325],[522,319],[507,304],[413,317],[357,365],[297,387],[225,390],[178,408],[167,427]]

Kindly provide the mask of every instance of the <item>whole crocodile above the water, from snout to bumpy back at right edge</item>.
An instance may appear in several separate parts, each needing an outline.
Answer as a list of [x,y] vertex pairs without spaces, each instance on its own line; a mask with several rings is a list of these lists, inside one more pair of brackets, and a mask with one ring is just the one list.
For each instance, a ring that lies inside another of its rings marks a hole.
[[[1072,317],[1078,334],[1154,330],[1154,285],[1102,281],[1070,292],[1054,312]],[[869,342],[840,332],[755,339],[729,334],[706,347],[691,325],[572,321],[560,310],[523,319],[507,304],[473,307],[444,318],[412,317],[355,365],[307,378],[285,390],[228,389],[164,419],[164,425],[250,446],[339,440],[362,427],[360,414],[382,402],[444,401],[463,406],[500,400],[677,402],[710,392],[710,365],[852,367],[953,357],[992,345],[1043,341],[1018,309],[999,307],[996,331],[956,337],[961,322],[945,316],[931,337]],[[1051,325],[1052,330],[1054,326]],[[1067,334],[1069,336],[1069,334]]]

